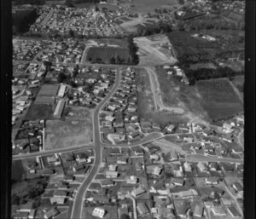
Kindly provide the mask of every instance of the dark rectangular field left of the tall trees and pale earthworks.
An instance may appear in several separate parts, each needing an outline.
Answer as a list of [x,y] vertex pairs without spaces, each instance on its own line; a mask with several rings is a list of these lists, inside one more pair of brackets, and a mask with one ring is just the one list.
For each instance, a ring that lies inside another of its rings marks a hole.
[[112,48],[112,47],[92,47],[89,49],[85,61],[102,61],[109,64],[112,58],[119,56],[122,63],[127,63],[130,57],[129,49],[126,48]]

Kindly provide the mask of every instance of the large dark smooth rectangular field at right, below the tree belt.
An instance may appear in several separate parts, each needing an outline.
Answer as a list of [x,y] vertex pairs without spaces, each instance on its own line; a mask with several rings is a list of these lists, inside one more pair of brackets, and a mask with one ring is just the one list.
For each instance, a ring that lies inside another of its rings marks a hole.
[[210,118],[225,118],[243,111],[242,103],[227,79],[199,81],[196,87]]

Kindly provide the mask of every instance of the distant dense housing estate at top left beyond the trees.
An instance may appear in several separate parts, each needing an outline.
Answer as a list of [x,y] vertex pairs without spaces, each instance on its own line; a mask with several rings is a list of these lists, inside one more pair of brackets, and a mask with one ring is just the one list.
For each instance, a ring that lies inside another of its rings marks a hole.
[[124,33],[113,20],[116,15],[115,12],[107,14],[102,9],[79,8],[51,9],[49,14],[45,15],[45,10],[42,9],[42,14],[30,26],[30,31],[60,34],[70,34],[70,31],[73,31],[80,36],[109,37]]

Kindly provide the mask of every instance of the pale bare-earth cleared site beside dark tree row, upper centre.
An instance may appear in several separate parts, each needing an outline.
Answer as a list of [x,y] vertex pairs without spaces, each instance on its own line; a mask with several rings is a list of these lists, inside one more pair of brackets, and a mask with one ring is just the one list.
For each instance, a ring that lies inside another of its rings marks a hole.
[[139,55],[139,65],[151,66],[162,64],[174,64],[177,62],[176,55],[172,49],[168,37],[157,34],[150,37],[135,37],[134,43],[137,44]]

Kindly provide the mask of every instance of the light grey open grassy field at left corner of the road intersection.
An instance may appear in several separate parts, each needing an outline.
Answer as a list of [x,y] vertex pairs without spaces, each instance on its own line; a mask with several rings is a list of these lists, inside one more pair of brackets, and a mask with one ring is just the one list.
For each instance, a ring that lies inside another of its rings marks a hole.
[[45,150],[90,143],[93,138],[91,114],[84,108],[72,109],[65,121],[49,120],[45,129]]

